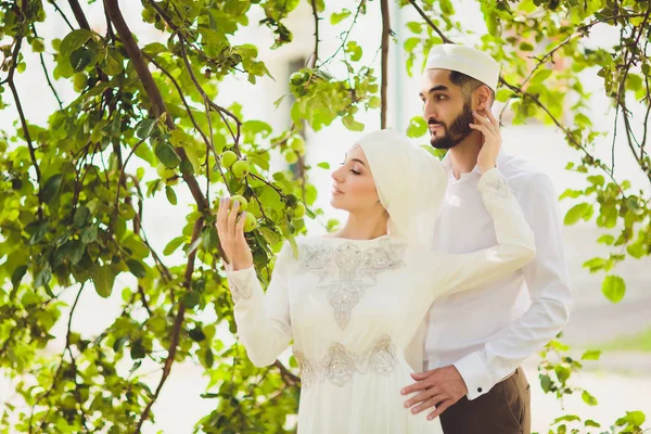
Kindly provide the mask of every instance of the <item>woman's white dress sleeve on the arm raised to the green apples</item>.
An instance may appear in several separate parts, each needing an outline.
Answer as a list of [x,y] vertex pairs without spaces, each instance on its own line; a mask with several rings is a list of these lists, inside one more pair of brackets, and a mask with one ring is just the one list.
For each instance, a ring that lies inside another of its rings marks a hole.
[[280,251],[266,293],[253,266],[237,271],[227,266],[238,335],[256,367],[273,365],[292,340],[288,297],[290,251],[288,244]]

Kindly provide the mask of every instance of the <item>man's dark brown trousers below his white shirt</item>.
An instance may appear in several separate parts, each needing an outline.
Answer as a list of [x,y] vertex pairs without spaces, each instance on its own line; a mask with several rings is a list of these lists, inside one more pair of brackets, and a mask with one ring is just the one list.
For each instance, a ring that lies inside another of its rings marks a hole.
[[441,414],[445,434],[531,434],[529,384],[522,368],[473,400],[465,396]]

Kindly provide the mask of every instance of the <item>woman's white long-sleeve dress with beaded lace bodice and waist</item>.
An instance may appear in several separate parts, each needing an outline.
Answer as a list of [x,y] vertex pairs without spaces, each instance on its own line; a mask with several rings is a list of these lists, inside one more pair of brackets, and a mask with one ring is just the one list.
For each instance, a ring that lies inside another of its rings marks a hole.
[[299,433],[442,433],[429,411],[410,413],[400,394],[422,365],[408,354],[417,329],[439,295],[490,282],[535,255],[499,171],[486,171],[478,188],[494,218],[492,248],[455,255],[390,234],[311,237],[298,242],[297,257],[283,246],[266,293],[253,268],[228,271],[238,334],[253,363],[272,365],[294,340]]

